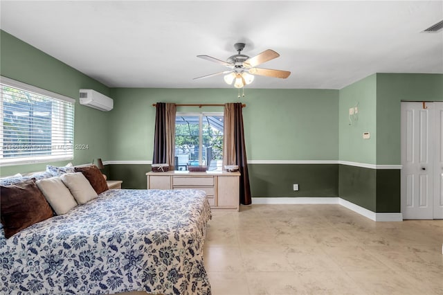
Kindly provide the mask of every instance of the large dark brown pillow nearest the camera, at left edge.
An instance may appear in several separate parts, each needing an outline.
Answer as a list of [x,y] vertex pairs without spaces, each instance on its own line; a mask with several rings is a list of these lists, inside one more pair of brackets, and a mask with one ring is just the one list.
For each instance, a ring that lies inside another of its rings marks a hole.
[[35,179],[12,186],[0,186],[0,210],[6,238],[53,216],[51,207],[35,184]]

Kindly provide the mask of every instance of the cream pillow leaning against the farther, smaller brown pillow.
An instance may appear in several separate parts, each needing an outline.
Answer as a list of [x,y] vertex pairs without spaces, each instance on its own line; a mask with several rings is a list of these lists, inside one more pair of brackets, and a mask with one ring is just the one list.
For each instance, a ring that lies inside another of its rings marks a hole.
[[86,204],[91,199],[98,197],[96,191],[82,172],[66,173],[60,176],[60,179],[71,190],[71,194],[79,205]]

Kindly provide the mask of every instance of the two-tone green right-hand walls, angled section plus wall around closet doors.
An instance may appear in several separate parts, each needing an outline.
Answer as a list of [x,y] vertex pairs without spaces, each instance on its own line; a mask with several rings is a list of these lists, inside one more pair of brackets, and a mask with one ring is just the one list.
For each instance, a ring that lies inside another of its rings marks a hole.
[[[443,100],[443,75],[377,73],[339,93],[339,159],[400,165],[401,101]],[[358,120],[349,125],[349,108],[359,103]],[[363,132],[370,132],[369,140]],[[338,195],[377,213],[400,212],[400,170],[341,165]]]

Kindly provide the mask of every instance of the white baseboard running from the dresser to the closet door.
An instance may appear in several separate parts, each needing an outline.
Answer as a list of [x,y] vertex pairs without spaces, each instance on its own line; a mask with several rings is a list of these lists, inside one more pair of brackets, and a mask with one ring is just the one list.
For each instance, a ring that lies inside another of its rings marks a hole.
[[341,197],[253,197],[252,204],[339,204],[376,222],[403,221],[401,213],[375,213]]

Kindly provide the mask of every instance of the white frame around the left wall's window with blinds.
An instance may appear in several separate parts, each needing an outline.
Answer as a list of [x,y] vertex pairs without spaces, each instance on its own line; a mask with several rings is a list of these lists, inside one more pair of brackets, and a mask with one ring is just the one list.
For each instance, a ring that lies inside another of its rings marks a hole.
[[[64,96],[59,93],[55,93],[53,91],[48,91],[46,89],[41,89],[39,87],[35,87],[30,84],[26,84],[24,82],[19,82],[17,80],[12,80],[7,77],[0,76],[0,84],[5,85],[6,87],[11,87],[15,89],[19,89],[21,91],[28,91],[30,93],[35,93],[39,96],[47,96],[48,98],[51,98],[53,100],[59,100],[62,102],[67,102],[72,105],[72,147],[67,149],[68,151],[71,151],[69,154],[63,154],[63,155],[37,155],[37,156],[28,156],[28,157],[10,157],[10,158],[4,158],[3,157],[3,135],[0,137],[0,167],[3,166],[15,166],[15,165],[24,165],[24,164],[30,164],[30,163],[48,163],[53,161],[64,161],[64,160],[72,160],[74,158],[74,138],[75,138],[75,99],[70,98],[68,96]],[[0,93],[0,115],[3,116],[3,91]],[[52,118],[52,116],[51,116]],[[3,118],[0,120],[0,134],[3,134]],[[65,120],[66,121],[66,120]],[[60,122],[63,122],[63,120],[60,120]],[[65,134],[66,135],[66,134]]]

